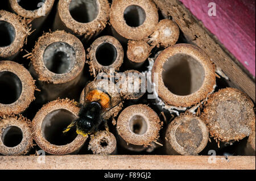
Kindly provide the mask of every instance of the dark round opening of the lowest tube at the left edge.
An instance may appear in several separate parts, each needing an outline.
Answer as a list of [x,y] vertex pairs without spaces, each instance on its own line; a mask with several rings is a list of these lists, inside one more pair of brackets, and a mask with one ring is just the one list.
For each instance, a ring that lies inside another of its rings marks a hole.
[[15,126],[10,126],[5,129],[2,134],[2,142],[7,147],[14,147],[20,144],[23,139],[22,130]]

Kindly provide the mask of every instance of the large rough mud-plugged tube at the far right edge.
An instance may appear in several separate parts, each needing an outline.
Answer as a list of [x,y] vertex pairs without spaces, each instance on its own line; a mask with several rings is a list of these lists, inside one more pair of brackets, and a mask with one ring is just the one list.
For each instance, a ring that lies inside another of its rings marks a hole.
[[240,90],[221,89],[208,100],[202,118],[216,140],[238,141],[249,136],[255,127],[253,107],[249,96]]

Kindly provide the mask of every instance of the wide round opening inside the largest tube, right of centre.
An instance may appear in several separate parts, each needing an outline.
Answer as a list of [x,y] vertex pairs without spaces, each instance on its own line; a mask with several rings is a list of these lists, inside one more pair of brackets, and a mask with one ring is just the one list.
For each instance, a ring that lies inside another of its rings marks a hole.
[[204,79],[203,66],[188,54],[175,54],[163,65],[164,85],[173,94],[193,94],[203,85]]

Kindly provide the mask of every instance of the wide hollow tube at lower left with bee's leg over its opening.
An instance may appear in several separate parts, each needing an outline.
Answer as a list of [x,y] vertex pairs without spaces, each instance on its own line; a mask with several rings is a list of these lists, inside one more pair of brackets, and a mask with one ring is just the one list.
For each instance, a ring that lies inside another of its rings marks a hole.
[[76,153],[88,137],[77,135],[76,128],[64,134],[80,108],[69,99],[57,99],[44,105],[32,121],[32,133],[36,144],[49,154]]

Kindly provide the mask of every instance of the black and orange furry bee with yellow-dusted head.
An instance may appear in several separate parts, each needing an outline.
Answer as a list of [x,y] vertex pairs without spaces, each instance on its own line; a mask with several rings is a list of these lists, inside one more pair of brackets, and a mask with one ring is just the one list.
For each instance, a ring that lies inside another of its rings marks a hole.
[[103,118],[105,113],[112,110],[119,103],[116,100],[111,100],[109,94],[101,90],[91,90],[84,96],[84,104],[80,108],[79,117],[73,120],[71,124],[63,131],[68,132],[71,128],[76,127],[77,134],[87,136],[98,131],[102,122],[105,122],[105,127],[108,128],[106,120]]

